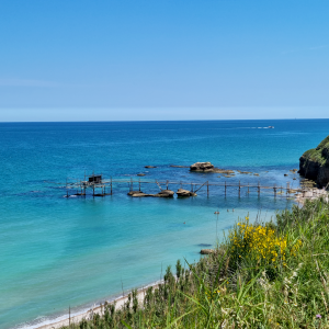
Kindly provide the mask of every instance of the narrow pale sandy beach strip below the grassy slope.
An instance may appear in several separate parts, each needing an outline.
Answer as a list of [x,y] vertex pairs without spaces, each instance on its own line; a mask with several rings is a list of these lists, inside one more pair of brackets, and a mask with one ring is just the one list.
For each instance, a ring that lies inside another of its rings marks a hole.
[[[162,280],[157,281],[157,282],[148,284],[141,288],[137,288],[138,303],[144,302],[145,293],[150,286],[156,288],[162,282],[163,282]],[[105,302],[107,302],[107,304],[116,303],[115,309],[118,310],[127,302],[128,295],[131,294],[132,291],[133,290],[131,290],[126,295],[121,295],[120,297],[115,297],[113,299],[106,299],[106,300],[104,300],[104,303]],[[93,307],[88,308],[88,309],[84,308],[81,311],[76,311],[71,316],[61,315],[55,319],[44,320],[43,322],[39,322],[39,324],[35,324],[35,325],[31,325],[31,326],[22,326],[22,327],[18,327],[18,328],[20,328],[20,329],[27,329],[27,328],[29,329],[59,329],[65,326],[69,326],[70,324],[71,325],[79,324],[83,319],[87,319],[87,320],[92,319],[93,315],[95,315],[95,314],[99,314],[101,316],[104,315],[104,304],[94,305]]]

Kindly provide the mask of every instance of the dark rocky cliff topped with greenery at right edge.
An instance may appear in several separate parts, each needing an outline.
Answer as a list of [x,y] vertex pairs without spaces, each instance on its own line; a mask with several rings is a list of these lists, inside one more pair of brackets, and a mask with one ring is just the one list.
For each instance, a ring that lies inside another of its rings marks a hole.
[[329,136],[317,148],[304,152],[299,158],[298,172],[320,186],[329,183]]

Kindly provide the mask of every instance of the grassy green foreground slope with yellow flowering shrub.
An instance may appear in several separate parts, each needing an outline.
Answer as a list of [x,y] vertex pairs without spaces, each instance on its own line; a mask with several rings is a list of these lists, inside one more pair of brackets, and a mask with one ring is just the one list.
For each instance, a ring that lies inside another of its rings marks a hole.
[[143,305],[134,291],[123,309],[104,305],[104,316],[71,328],[329,328],[329,205],[249,222],[188,270],[168,268]]

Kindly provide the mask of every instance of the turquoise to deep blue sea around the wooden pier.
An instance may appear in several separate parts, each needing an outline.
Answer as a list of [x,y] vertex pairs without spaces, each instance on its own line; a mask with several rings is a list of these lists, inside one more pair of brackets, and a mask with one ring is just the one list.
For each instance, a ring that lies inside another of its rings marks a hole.
[[[215,245],[239,217],[269,220],[292,206],[246,189],[225,198],[218,188],[185,200],[132,198],[128,185],[114,185],[112,196],[66,198],[67,178],[144,172],[141,180],[294,188],[299,178],[290,170],[328,134],[329,120],[0,123],[0,328],[33,326],[120,295],[122,285],[157,281],[178,259],[197,260],[201,245]],[[170,167],[196,161],[260,175]]]

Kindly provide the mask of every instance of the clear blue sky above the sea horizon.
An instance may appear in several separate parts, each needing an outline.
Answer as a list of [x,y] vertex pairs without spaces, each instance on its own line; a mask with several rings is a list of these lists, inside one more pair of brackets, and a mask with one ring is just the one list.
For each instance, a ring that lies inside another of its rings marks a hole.
[[1,0],[0,121],[329,117],[329,1]]

